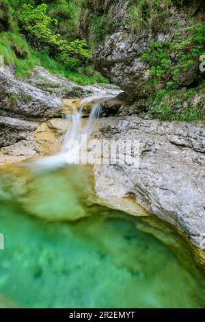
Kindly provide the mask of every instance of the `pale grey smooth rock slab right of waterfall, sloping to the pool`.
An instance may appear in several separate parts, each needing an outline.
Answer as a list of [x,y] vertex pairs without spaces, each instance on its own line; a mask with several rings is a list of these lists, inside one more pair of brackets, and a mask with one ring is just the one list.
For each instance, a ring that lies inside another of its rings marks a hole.
[[[128,164],[95,165],[96,193],[113,206],[116,197],[140,205],[185,232],[203,248],[205,184],[203,123],[161,122],[137,116],[102,119],[98,138],[137,140],[139,168]],[[119,208],[115,203],[115,208]]]

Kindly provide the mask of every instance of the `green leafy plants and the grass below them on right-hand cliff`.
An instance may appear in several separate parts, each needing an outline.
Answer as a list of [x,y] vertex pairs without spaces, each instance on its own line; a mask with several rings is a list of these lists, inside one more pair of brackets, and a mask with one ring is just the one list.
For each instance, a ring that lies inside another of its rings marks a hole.
[[[154,105],[152,115],[162,120],[195,121],[204,119],[204,111],[190,105],[195,95],[193,87],[203,84],[198,73],[200,55],[205,50],[205,24],[198,23],[181,29],[171,40],[152,42],[143,54],[143,60],[150,64],[150,80],[144,92],[150,95],[150,108]],[[183,89],[189,84],[188,90]],[[176,96],[170,101],[169,97]],[[187,108],[175,110],[179,103],[187,102]]]

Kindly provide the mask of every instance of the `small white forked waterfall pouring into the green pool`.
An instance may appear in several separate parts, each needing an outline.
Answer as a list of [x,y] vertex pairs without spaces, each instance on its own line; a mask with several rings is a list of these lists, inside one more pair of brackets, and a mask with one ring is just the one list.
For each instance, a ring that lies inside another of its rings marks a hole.
[[55,156],[36,160],[32,164],[39,167],[45,167],[47,169],[64,166],[66,163],[80,164],[81,159],[79,151],[81,150],[81,147],[83,147],[85,140],[91,136],[94,124],[96,119],[99,118],[100,112],[100,103],[94,103],[87,124],[83,127],[81,111],[78,112],[74,108],[72,115],[66,115],[66,119],[72,121],[72,123],[65,134],[61,153],[58,153]]

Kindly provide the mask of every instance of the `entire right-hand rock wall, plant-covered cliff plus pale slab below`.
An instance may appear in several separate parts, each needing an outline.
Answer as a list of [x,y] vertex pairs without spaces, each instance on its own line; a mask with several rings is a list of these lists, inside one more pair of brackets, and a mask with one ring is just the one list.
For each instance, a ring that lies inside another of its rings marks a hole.
[[96,68],[126,92],[102,104],[104,116],[119,117],[102,121],[96,136],[138,140],[140,164],[137,170],[126,164],[95,166],[96,191],[111,207],[130,212],[143,206],[204,249],[204,122],[153,119],[204,120],[204,36],[198,51],[195,42],[198,28],[204,30],[204,3],[161,1],[158,14],[153,8],[150,14],[141,1],[141,25],[140,19],[131,22],[132,10],[139,13],[133,3],[111,7],[114,27],[94,49]]

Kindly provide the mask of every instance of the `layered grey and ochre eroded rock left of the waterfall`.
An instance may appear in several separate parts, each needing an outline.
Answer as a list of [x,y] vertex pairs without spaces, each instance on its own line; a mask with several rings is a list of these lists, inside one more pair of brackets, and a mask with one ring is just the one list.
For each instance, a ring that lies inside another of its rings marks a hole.
[[70,127],[66,114],[73,114],[75,106],[88,97],[87,117],[92,99],[120,92],[109,84],[79,86],[40,66],[27,79],[0,71],[0,88],[0,164],[59,152]]

